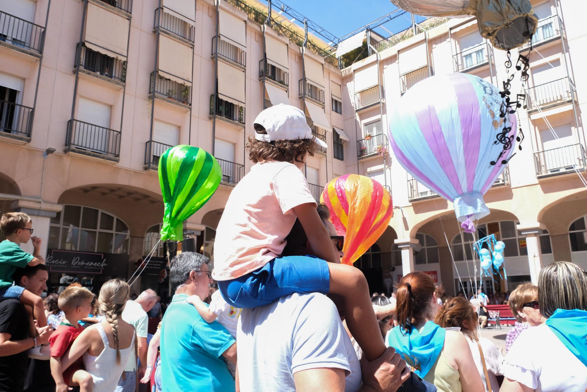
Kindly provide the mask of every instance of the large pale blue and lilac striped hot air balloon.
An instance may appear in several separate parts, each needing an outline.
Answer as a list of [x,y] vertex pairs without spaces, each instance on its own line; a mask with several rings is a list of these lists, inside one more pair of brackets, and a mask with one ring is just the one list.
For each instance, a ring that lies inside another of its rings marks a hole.
[[489,214],[483,195],[514,152],[515,116],[500,117],[502,102],[497,87],[478,76],[436,75],[410,88],[390,120],[397,161],[453,202],[460,222]]

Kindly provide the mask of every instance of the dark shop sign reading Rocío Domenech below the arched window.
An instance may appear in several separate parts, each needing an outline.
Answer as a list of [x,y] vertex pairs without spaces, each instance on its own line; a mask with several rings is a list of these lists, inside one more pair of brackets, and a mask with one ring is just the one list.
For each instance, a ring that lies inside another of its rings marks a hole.
[[126,276],[128,254],[75,252],[49,249],[45,259],[49,272]]

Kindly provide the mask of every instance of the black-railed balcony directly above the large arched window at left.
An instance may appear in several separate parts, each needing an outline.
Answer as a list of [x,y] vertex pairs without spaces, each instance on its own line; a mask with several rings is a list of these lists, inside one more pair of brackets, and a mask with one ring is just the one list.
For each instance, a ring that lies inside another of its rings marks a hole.
[[120,132],[79,120],[69,120],[65,152],[76,152],[118,162]]

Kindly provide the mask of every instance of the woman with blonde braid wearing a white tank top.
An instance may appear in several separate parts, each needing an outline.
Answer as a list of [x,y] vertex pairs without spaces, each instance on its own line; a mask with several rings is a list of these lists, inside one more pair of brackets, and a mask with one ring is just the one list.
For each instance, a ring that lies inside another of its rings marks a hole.
[[93,392],[112,392],[134,350],[134,327],[121,317],[129,299],[129,284],[120,279],[104,283],[98,297],[106,320],[87,327],[61,359],[63,370],[83,355],[86,371],[94,381]]

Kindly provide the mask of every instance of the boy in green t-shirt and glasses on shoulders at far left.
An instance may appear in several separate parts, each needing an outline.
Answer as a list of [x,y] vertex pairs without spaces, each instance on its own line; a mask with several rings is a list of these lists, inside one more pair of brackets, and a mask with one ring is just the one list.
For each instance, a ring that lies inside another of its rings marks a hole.
[[[47,325],[47,317],[42,298],[14,284],[12,279],[16,268],[45,264],[45,259],[40,253],[41,239],[32,236],[31,217],[22,212],[8,212],[2,215],[0,230],[6,236],[6,240],[0,242],[0,301],[17,299],[31,306],[39,327],[44,327]],[[33,254],[26,253],[20,246],[21,243],[29,242],[29,239],[33,244]],[[34,323],[31,323],[31,332],[32,336],[35,336]]]

